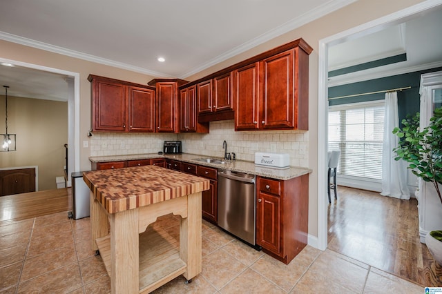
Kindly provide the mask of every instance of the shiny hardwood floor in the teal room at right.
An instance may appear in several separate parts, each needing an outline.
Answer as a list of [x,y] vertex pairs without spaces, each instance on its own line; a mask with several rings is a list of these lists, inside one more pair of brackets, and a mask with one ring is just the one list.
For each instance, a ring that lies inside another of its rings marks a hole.
[[423,286],[442,286],[442,268],[419,240],[416,199],[339,186],[328,226],[330,250]]

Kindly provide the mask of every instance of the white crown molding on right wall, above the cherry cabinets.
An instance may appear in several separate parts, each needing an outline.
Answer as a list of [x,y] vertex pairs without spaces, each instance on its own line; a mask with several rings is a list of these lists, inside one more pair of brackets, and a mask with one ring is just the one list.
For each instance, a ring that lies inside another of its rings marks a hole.
[[334,12],[335,10],[343,8],[344,6],[347,6],[347,5],[349,5],[353,2],[356,2],[356,1],[357,0],[329,1],[328,3],[325,3],[322,6],[315,8],[314,10],[310,10],[308,12],[305,12],[304,14],[300,15],[300,17],[296,17],[296,19],[291,19],[291,21],[287,21],[286,23],[283,23],[282,25],[274,28],[273,30],[269,30],[268,32],[265,32],[264,34],[254,38],[254,39],[251,39],[250,41],[247,41],[246,43],[242,43],[242,45],[237,46],[236,48],[233,48],[227,52],[224,52],[222,55],[218,55],[218,57],[215,57],[214,59],[211,59],[210,61],[203,63],[201,66],[193,68],[187,72],[183,72],[178,77],[180,79],[185,79],[186,77],[190,77],[191,75],[195,75],[198,72],[205,70],[206,68],[210,68],[211,66],[215,66],[216,64],[218,64],[222,61],[225,61],[231,57],[235,57],[236,55],[239,55],[242,52],[250,50],[251,48],[254,48],[262,43],[265,43],[275,37],[283,35],[286,32],[289,32],[291,30],[299,28],[300,26],[303,26],[306,23],[314,21],[315,19],[319,19],[320,17],[323,17],[326,14]]

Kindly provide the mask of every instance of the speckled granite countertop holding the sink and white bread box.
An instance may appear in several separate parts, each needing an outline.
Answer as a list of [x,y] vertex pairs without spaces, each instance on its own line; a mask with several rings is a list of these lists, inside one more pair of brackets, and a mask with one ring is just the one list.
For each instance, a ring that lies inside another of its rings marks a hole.
[[290,166],[289,168],[269,168],[265,166],[256,166],[252,161],[242,161],[242,160],[226,160],[224,164],[213,164],[206,161],[199,161],[195,159],[200,158],[214,158],[224,161],[222,158],[195,155],[189,153],[182,154],[166,154],[158,155],[157,153],[148,154],[135,154],[135,155],[113,155],[113,156],[100,156],[100,157],[89,157],[91,162],[108,162],[108,161],[124,161],[124,160],[137,160],[137,159],[151,159],[151,158],[166,158],[175,159],[178,161],[187,162],[190,164],[198,164],[200,166],[210,166],[213,168],[220,168],[224,170],[232,170],[240,173],[249,173],[251,175],[259,175],[261,177],[270,177],[272,179],[293,179],[294,177],[300,177],[301,175],[306,175],[311,173],[310,168],[301,168],[296,166]]

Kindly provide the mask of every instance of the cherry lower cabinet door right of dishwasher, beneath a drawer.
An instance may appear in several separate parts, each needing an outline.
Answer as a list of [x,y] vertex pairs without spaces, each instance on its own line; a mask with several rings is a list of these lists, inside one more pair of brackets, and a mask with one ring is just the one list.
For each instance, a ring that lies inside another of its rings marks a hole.
[[256,204],[256,243],[280,255],[280,197],[258,193]]

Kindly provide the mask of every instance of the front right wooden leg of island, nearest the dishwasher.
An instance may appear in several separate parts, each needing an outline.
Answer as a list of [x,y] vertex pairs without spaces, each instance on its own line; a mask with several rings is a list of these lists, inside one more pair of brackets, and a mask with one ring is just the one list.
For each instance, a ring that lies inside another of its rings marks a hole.
[[180,224],[180,258],[187,264],[186,280],[201,273],[201,192],[187,196],[187,217]]

